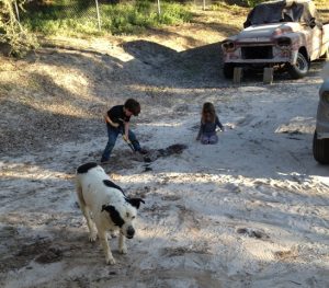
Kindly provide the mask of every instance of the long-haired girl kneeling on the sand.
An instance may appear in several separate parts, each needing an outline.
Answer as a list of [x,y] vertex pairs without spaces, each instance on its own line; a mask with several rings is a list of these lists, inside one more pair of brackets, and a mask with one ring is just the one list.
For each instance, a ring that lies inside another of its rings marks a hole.
[[201,126],[196,137],[196,140],[201,140],[202,143],[214,145],[217,143],[218,137],[216,135],[216,127],[219,127],[224,131],[224,126],[218,119],[213,103],[206,102],[203,104]]

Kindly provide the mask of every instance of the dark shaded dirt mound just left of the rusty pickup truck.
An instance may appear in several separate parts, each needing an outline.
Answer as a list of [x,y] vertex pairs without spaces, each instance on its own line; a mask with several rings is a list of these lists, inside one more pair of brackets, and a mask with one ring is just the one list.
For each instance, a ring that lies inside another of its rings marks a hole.
[[145,84],[207,88],[220,87],[223,82],[227,82],[222,73],[220,43],[185,51],[175,51],[147,41],[127,42],[123,47],[134,56],[134,59],[126,64],[127,70]]

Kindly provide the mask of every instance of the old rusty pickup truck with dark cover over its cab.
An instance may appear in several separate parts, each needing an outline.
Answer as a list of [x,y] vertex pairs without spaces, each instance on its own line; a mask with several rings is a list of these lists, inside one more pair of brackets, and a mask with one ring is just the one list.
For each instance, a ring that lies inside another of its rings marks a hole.
[[310,0],[279,0],[256,5],[245,30],[222,43],[223,73],[236,67],[288,71],[293,79],[307,74],[310,61],[329,59],[329,23],[321,23]]

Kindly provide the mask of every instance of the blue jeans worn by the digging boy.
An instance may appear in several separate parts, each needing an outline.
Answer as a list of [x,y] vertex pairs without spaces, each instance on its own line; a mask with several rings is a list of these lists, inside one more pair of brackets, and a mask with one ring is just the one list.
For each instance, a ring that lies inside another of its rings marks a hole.
[[[109,140],[107,140],[106,147],[104,149],[104,152],[102,154],[101,162],[107,161],[110,159],[110,155],[111,155],[111,152],[112,152],[112,150],[115,146],[115,141],[116,141],[117,136],[120,134],[124,134],[122,127],[115,128],[115,127],[112,127],[111,125],[107,124],[106,128],[107,128]],[[135,134],[132,130],[128,131],[128,138],[129,138],[135,151],[140,150],[140,145],[139,145],[138,140],[136,139]]]

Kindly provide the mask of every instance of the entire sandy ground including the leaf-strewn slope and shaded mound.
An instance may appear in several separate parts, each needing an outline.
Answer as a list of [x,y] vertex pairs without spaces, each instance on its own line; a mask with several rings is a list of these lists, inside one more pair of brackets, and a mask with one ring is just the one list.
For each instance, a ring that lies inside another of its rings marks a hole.
[[[328,168],[311,154],[324,64],[232,85],[218,43],[170,33],[1,59],[0,287],[329,287]],[[144,147],[186,149],[147,163],[117,141],[104,169],[146,204],[106,266],[73,175],[100,160],[102,113],[131,96]],[[205,101],[226,127],[215,146],[195,141]]]

